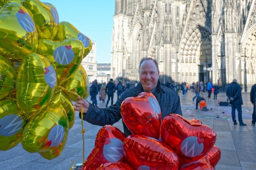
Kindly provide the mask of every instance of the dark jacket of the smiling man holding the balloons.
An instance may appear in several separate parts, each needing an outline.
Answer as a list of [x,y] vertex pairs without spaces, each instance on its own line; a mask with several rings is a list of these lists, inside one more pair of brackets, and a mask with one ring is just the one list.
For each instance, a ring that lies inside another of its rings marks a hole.
[[[109,106],[108,109],[99,109],[90,103],[87,113],[84,113],[83,120],[99,126],[112,125],[122,118],[120,107],[123,100],[128,97],[136,97],[143,91],[143,87],[141,83],[139,83],[136,87],[130,88],[123,92],[115,105]],[[171,113],[177,113],[182,116],[179,95],[175,91],[161,86],[160,82],[158,81],[157,89],[154,95],[159,102],[162,111],[162,119]],[[79,117],[81,118],[81,113],[79,114]],[[123,123],[123,129],[125,135],[128,136],[131,134],[125,123]]]

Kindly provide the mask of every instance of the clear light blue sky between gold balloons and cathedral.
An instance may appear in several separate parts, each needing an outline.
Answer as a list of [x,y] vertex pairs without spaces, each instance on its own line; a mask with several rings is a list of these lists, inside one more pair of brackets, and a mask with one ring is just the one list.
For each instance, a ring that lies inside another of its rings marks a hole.
[[97,42],[98,63],[111,63],[111,45],[115,0],[41,0],[55,6],[60,21],[74,25]]

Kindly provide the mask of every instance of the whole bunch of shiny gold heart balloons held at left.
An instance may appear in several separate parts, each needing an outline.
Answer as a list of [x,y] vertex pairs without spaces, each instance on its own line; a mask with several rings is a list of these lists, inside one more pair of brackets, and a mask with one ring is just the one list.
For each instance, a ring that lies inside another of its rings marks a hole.
[[0,150],[19,142],[59,156],[74,124],[71,100],[87,98],[82,59],[91,40],[39,0],[0,0]]

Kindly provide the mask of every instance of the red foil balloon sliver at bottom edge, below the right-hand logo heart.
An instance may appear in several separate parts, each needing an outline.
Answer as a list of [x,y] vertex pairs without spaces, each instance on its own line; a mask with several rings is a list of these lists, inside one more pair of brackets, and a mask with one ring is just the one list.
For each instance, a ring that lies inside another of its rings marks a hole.
[[214,170],[214,167],[211,166],[209,160],[206,157],[203,157],[197,162],[189,164],[180,170]]

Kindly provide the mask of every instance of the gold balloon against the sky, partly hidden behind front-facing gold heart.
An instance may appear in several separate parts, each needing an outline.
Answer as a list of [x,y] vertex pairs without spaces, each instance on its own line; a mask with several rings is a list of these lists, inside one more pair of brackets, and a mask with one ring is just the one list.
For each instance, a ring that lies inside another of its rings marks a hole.
[[84,45],[84,57],[87,56],[88,53],[90,53],[92,49],[92,42],[91,40],[82,34],[80,31],[78,31],[72,24],[69,22],[60,22],[57,35],[55,37],[55,40],[64,40],[64,39],[71,39],[75,38],[80,40]]

